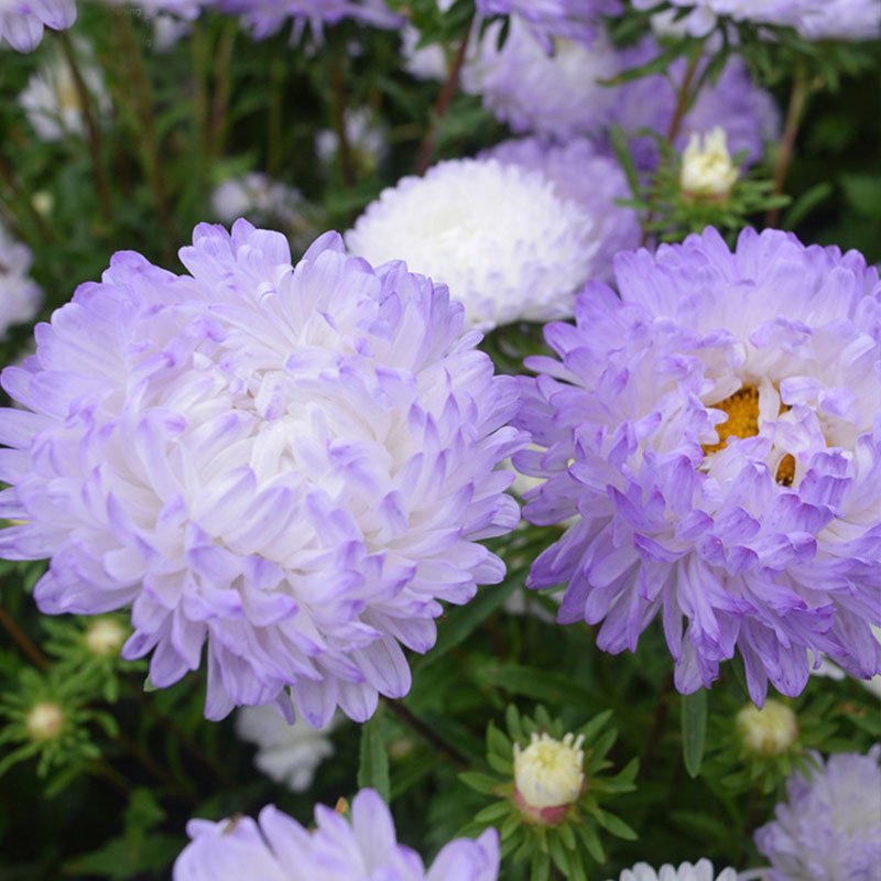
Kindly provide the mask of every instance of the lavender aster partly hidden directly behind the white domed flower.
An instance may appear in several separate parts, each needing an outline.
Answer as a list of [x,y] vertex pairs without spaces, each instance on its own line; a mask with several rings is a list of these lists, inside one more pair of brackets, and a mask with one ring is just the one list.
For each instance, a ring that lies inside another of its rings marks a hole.
[[546,143],[540,138],[513,139],[483,155],[542,172],[561,198],[572,199],[590,217],[598,247],[588,278],[611,280],[612,258],[639,244],[641,230],[635,210],[614,202],[631,195],[621,165],[588,138],[575,138],[565,144]]

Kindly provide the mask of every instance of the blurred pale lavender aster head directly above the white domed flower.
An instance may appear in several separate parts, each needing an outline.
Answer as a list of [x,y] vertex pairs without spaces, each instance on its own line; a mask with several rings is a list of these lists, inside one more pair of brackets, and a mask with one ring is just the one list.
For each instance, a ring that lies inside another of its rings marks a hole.
[[469,50],[461,70],[463,90],[482,96],[485,107],[516,133],[534,132],[559,141],[594,135],[611,121],[616,89],[599,85],[620,70],[620,56],[605,32],[590,46],[556,37],[553,54],[529,24],[511,17],[504,45],[502,22],[489,24]]

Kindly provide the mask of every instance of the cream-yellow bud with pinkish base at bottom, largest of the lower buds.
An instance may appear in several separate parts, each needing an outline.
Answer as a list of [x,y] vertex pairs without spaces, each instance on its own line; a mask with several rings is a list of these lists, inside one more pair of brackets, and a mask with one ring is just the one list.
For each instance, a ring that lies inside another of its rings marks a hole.
[[533,732],[525,750],[514,744],[514,803],[534,822],[559,823],[566,808],[581,794],[584,736],[573,742],[574,735],[554,740],[550,735]]

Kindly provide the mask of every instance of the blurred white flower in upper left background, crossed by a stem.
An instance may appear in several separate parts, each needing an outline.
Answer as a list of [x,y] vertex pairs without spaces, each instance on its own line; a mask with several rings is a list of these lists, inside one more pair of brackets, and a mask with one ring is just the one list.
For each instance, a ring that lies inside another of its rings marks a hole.
[[[74,52],[93,107],[99,117],[107,116],[112,105],[104,85],[104,75],[93,59],[91,47],[83,40],[74,40]],[[19,95],[19,105],[41,141],[63,141],[70,134],[86,133],[83,97],[70,65],[59,52],[51,55],[31,75]]]

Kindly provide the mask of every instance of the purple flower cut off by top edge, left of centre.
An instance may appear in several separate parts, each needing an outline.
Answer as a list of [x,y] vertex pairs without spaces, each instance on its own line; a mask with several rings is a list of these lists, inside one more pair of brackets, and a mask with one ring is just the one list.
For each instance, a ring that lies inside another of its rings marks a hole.
[[207,7],[241,15],[257,40],[274,34],[291,19],[295,33],[305,24],[320,33],[325,24],[354,19],[373,28],[396,28],[402,19],[385,0],[207,0]]

